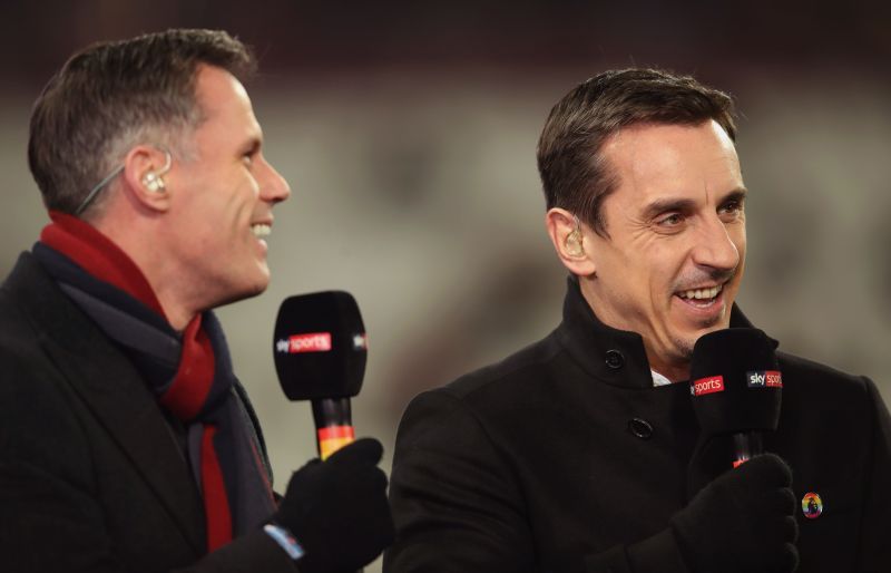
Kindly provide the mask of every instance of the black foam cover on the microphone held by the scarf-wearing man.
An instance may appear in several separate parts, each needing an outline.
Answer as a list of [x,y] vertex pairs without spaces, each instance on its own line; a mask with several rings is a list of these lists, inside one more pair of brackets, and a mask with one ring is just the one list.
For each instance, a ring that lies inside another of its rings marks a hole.
[[288,399],[349,398],[362,389],[365,327],[350,293],[325,291],[285,299],[273,344],[278,382]]

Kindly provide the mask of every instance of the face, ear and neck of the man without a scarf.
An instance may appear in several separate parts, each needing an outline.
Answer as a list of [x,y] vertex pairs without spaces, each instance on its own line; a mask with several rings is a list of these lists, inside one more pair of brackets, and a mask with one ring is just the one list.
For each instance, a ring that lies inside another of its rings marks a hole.
[[[727,328],[745,262],[745,187],[727,132],[634,125],[600,153],[621,182],[603,206],[609,227],[576,232],[576,215],[548,213],[564,264],[597,317],[643,337],[653,370],[687,377],[699,336]],[[575,241],[578,241],[576,249]]]

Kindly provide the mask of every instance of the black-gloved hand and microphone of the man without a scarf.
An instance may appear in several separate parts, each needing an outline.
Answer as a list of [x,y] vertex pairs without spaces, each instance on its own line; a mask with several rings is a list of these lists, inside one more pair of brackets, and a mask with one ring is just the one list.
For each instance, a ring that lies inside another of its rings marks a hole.
[[[691,394],[705,438],[733,436],[733,469],[705,486],[672,519],[696,572],[791,572],[797,566],[792,470],[764,454],[762,433],[780,423],[782,373],[775,342],[756,329],[699,338],[691,360]],[[732,455],[732,459],[731,459]]]

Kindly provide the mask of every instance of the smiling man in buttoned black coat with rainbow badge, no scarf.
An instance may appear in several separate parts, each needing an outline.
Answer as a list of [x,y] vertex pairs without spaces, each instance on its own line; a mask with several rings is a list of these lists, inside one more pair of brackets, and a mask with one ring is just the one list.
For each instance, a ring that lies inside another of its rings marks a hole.
[[770,454],[733,469],[696,421],[696,341],[752,327],[735,137],[726,95],[658,70],[554,107],[538,165],[564,321],[409,406],[388,573],[884,571],[891,421],[869,379],[779,352]]

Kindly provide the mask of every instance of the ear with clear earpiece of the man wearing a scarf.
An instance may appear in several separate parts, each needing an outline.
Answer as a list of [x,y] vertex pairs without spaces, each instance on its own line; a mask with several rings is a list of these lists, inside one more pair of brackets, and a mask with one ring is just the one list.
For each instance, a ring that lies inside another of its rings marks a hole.
[[137,145],[124,157],[124,179],[129,197],[156,212],[170,207],[170,191],[164,179],[170,169],[170,154],[150,145]]

